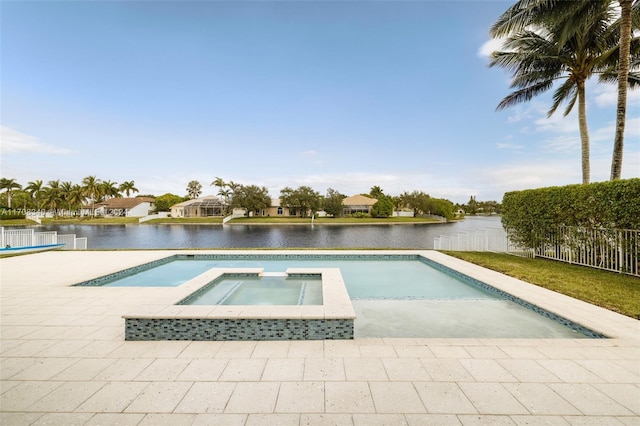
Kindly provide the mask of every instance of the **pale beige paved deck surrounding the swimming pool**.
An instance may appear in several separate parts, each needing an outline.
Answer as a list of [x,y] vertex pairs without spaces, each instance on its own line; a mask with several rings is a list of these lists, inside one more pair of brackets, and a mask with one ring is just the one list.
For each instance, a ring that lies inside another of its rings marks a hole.
[[366,253],[423,254],[611,338],[125,341],[122,315],[167,289],[70,286],[187,252],[1,259],[0,424],[640,425],[639,321],[438,252]]

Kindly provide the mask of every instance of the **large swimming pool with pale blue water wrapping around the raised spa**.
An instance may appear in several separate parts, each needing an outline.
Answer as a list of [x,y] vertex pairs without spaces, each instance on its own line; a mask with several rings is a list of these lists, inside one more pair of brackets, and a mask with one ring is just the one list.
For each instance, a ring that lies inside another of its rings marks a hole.
[[419,255],[176,255],[82,284],[180,286],[217,268],[338,268],[356,337],[604,337]]

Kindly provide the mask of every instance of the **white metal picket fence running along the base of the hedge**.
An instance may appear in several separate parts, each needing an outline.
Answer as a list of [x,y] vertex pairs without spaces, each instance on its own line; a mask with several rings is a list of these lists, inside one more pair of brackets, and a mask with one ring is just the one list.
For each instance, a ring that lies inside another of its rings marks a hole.
[[435,250],[491,251],[543,257],[591,268],[640,276],[640,230],[586,229],[564,226],[540,238],[535,249],[514,244],[502,228],[482,228],[440,235]]

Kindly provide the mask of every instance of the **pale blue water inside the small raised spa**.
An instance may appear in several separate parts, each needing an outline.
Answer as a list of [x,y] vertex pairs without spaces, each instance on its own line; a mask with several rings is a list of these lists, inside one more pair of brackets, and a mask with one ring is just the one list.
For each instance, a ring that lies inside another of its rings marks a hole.
[[286,276],[229,277],[223,275],[183,305],[322,305],[318,278]]

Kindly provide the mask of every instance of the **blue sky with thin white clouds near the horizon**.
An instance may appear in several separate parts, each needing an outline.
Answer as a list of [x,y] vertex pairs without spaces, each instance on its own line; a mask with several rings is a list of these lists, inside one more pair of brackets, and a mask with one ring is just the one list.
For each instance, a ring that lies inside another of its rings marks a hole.
[[[509,1],[117,1],[1,4],[3,177],[134,180],[272,196],[380,186],[466,202],[580,183],[575,114],[550,95],[495,111],[488,68]],[[610,173],[615,86],[587,88],[591,180]],[[640,91],[623,177],[640,176]]]

